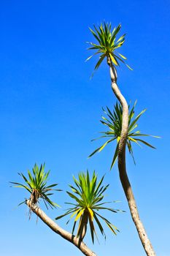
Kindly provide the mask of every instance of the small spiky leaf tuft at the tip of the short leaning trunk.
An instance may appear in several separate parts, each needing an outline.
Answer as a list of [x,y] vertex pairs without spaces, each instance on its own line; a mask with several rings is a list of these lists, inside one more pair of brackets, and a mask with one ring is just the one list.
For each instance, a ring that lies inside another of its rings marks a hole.
[[[39,203],[39,199],[42,198],[47,208],[48,206],[56,208],[58,204],[53,203],[49,196],[53,195],[52,191],[61,191],[61,189],[54,189],[58,184],[51,184],[47,186],[47,178],[50,170],[45,173],[45,164],[41,165],[40,168],[35,164],[32,170],[32,173],[28,170],[28,178],[26,178],[23,173],[18,173],[25,181],[25,184],[12,181],[10,183],[15,184],[14,187],[26,189],[31,194],[31,203]],[[25,201],[22,203],[25,203]]]

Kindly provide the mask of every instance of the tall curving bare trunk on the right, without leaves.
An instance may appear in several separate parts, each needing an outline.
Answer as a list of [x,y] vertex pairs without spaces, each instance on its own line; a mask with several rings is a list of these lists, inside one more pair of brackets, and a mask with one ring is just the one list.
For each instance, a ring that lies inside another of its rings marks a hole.
[[120,143],[119,143],[119,149],[118,149],[118,169],[119,169],[119,175],[120,175],[120,181],[123,186],[123,190],[125,192],[125,197],[128,200],[128,206],[131,211],[131,217],[134,221],[134,225],[136,226],[136,230],[139,234],[139,238],[142,242],[142,245],[144,247],[144,250],[147,254],[147,256],[155,256],[155,252],[152,248],[152,244],[147,237],[147,233],[144,230],[144,225],[142,224],[140,218],[138,209],[136,206],[136,202],[134,199],[134,194],[131,189],[131,184],[128,180],[128,175],[126,173],[126,167],[125,167],[125,146],[126,146],[126,139],[128,135],[128,104],[123,97],[123,95],[120,92],[120,89],[117,86],[117,72],[115,70],[115,67],[112,64],[112,61],[108,58],[107,63],[110,67],[110,76],[112,81],[112,91],[114,92],[115,96],[119,100],[120,104],[123,108],[123,124],[122,124],[122,131],[120,135]]

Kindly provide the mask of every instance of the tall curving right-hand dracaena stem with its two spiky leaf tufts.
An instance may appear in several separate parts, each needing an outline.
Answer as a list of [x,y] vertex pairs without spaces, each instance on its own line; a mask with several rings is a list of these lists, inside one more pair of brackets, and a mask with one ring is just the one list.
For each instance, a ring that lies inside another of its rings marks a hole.
[[[155,252],[152,248],[152,244],[150,239],[147,237],[147,233],[144,230],[144,225],[139,218],[139,212],[136,206],[136,201],[134,199],[134,194],[131,189],[131,184],[128,179],[128,174],[126,172],[126,165],[125,165],[125,148],[126,145],[128,146],[128,150],[131,154],[133,154],[131,142],[137,142],[134,136],[129,138],[129,118],[131,119],[131,113],[128,114],[128,104],[126,102],[125,97],[121,93],[119,87],[117,86],[117,70],[116,67],[120,66],[120,63],[125,64],[129,69],[131,67],[126,64],[126,57],[123,56],[121,53],[118,52],[120,47],[125,42],[125,34],[121,37],[117,37],[119,33],[121,25],[118,25],[115,29],[112,29],[111,23],[101,23],[101,26],[94,26],[93,29],[90,29],[91,33],[93,34],[94,39],[96,42],[89,42],[90,48],[89,50],[95,50],[95,53],[88,58],[91,59],[93,56],[99,56],[99,59],[96,63],[95,70],[100,67],[101,63],[106,60],[107,64],[109,65],[109,72],[111,78],[111,86],[112,91],[115,94],[115,97],[120,102],[120,105],[117,106],[118,114],[121,114],[121,118],[115,116],[115,113],[109,112],[109,118],[111,120],[105,120],[104,124],[111,129],[111,131],[106,132],[105,135],[108,137],[112,135],[113,138],[117,138],[117,148],[114,154],[112,165],[115,163],[115,159],[118,159],[118,169],[120,174],[120,181],[123,186],[123,190],[125,192],[125,197],[128,200],[128,206],[131,211],[131,217],[136,225],[136,230],[139,234],[139,238],[142,241],[142,245],[144,250],[148,256],[154,256]],[[109,109],[107,109],[109,111]],[[131,125],[131,124],[130,124]],[[117,133],[118,129],[118,133]],[[139,135],[139,134],[138,134]],[[109,142],[113,140],[107,141],[103,146],[97,148],[96,151],[101,151],[104,146],[106,146]],[[140,139],[139,139],[140,140]],[[141,141],[142,142],[142,141]],[[146,144],[146,143],[145,143]],[[148,145],[147,145],[148,146]],[[96,152],[95,151],[95,152]],[[95,153],[93,152],[93,154]],[[111,167],[112,167],[111,165]]]

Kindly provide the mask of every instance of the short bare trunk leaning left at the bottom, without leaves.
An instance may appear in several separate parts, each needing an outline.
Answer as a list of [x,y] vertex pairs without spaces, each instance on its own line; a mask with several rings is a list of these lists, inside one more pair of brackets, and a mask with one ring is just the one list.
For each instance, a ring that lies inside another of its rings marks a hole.
[[55,233],[57,233],[62,238],[66,239],[70,243],[74,244],[74,246],[77,246],[80,251],[86,255],[86,256],[96,256],[94,252],[92,252],[88,246],[80,240],[77,236],[72,235],[71,233],[67,232],[66,230],[63,230],[63,228],[59,227],[53,219],[50,219],[44,211],[42,211],[41,208],[36,206],[36,204],[31,203],[31,200],[26,201],[27,206],[31,209],[31,211],[36,214],[37,217],[42,219],[45,224],[50,227],[51,230],[53,230]]

